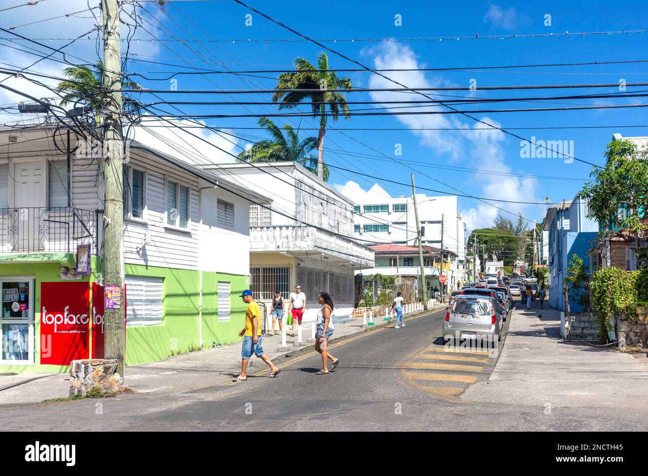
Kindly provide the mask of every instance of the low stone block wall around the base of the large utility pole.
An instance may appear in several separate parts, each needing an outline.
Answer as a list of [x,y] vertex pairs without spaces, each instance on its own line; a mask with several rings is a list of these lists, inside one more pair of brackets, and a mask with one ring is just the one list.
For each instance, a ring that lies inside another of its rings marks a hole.
[[70,363],[70,396],[86,396],[94,387],[102,394],[133,393],[124,386],[124,379],[117,374],[117,361],[106,359],[73,360]]

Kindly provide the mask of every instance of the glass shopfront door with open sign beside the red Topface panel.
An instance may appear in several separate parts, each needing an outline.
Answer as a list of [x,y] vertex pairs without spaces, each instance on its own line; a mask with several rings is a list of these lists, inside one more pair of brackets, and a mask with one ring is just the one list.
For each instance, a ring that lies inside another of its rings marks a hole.
[[34,278],[0,277],[0,365],[34,363]]

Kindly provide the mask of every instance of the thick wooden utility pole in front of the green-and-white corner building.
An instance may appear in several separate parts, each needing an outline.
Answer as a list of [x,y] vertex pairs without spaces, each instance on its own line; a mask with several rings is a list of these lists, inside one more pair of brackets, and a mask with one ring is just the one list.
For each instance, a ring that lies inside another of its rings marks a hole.
[[119,286],[121,305],[104,310],[104,358],[117,359],[117,373],[124,376],[124,137],[122,111],[121,41],[117,0],[101,0],[104,27],[104,286]]

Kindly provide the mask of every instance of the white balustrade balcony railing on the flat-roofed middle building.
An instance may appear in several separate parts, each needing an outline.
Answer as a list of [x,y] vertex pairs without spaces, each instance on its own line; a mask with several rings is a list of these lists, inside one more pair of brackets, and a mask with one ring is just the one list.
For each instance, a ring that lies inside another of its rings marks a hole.
[[321,251],[371,267],[373,250],[337,234],[314,227],[250,227],[250,251]]

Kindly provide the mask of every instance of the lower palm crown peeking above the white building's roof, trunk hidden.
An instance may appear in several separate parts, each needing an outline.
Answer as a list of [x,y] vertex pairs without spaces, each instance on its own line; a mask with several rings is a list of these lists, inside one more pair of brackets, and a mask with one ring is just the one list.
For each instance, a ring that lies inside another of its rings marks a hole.
[[[285,162],[295,161],[313,174],[318,173],[318,159],[310,155],[318,144],[315,137],[299,141],[299,135],[292,126],[286,124],[279,128],[267,117],[261,117],[257,124],[270,134],[272,139],[256,142],[248,150],[238,154],[238,162]],[[307,155],[309,154],[309,155]],[[323,180],[329,180],[329,168],[323,165]]]

